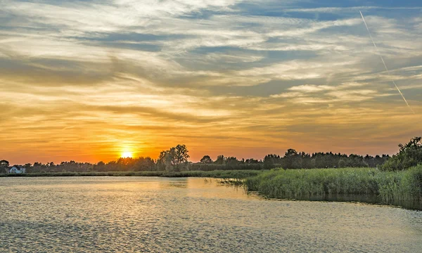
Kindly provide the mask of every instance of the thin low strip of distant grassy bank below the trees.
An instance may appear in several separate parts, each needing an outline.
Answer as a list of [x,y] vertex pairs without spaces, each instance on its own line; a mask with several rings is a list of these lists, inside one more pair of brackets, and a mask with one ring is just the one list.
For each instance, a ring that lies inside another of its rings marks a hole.
[[44,172],[25,174],[0,174],[0,177],[15,176],[162,176],[162,177],[210,177],[216,179],[245,179],[257,176],[257,170],[218,170],[218,171],[105,171],[105,172]]

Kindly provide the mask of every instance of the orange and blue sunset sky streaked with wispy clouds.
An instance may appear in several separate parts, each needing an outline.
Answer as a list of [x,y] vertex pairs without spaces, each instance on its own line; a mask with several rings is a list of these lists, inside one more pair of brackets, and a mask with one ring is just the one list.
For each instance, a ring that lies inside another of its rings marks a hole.
[[422,134],[421,1],[0,6],[0,159],[11,164],[156,158],[177,144],[192,161],[393,154]]

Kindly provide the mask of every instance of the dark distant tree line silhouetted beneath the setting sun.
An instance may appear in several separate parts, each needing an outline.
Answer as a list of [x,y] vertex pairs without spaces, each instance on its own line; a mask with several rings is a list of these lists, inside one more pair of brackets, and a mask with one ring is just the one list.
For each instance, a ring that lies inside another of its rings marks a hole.
[[[212,170],[243,170],[243,169],[312,169],[312,168],[343,168],[343,167],[381,167],[390,160],[389,155],[345,155],[340,153],[304,153],[288,149],[283,156],[269,154],[262,160],[241,159],[237,157],[217,156],[212,160],[204,155],[200,162],[188,161],[186,145],[177,145],[169,150],[163,150],[157,160],[151,157],[126,157],[111,162],[60,162],[55,164],[35,162],[24,164],[27,173],[63,172],[63,171],[212,171]],[[9,164],[0,161],[0,171],[5,173]]]

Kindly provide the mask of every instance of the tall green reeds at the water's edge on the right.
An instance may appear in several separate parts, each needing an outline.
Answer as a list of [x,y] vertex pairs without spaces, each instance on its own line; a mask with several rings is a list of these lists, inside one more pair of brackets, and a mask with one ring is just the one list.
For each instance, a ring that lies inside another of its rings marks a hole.
[[407,171],[370,168],[272,169],[245,180],[248,190],[272,198],[376,195],[381,202],[422,201],[422,165]]

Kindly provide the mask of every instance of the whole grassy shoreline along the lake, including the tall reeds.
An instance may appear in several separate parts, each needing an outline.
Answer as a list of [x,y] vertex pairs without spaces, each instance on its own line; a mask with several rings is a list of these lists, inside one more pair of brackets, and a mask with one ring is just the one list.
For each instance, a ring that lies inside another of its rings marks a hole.
[[[406,175],[407,174],[407,175]],[[362,202],[422,211],[422,167],[409,171],[348,169],[271,169],[218,171],[86,171],[0,174],[1,178],[75,176],[156,176],[225,179],[271,200]],[[231,180],[233,179],[233,180]],[[385,186],[388,186],[385,188]]]

